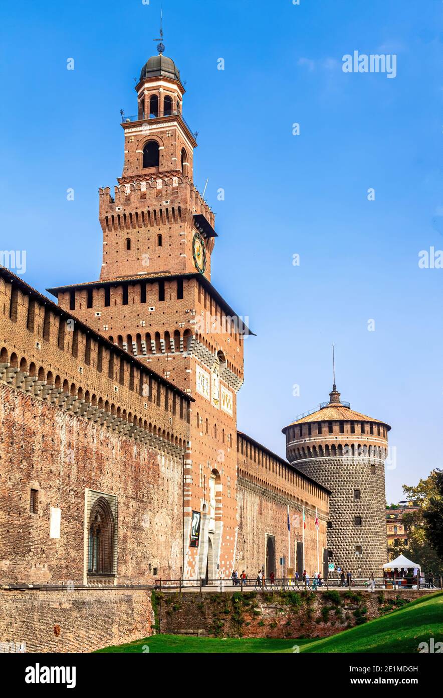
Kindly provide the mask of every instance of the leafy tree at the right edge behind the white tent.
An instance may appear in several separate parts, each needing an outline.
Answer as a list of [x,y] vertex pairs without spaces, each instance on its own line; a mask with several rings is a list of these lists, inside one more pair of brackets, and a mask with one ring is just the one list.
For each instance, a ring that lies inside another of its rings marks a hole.
[[396,555],[403,554],[418,563],[423,572],[443,570],[443,472],[433,470],[416,487],[403,485],[406,499],[419,508],[401,517],[407,529],[408,544],[394,542]]

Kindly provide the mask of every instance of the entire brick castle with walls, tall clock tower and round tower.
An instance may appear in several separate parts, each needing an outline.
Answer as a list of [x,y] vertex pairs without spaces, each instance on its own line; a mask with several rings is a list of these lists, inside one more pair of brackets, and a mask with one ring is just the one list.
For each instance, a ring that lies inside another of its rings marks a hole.
[[54,303],[0,268],[0,639],[12,622],[28,651],[143,637],[160,579],[325,577],[331,559],[357,574],[357,540],[364,573],[387,559],[389,426],[371,420],[349,476],[339,435],[370,418],[335,387],[283,430],[289,462],[238,431],[253,333],[210,280],[185,89],[162,50],[135,89],[122,175],[99,190],[100,279],[48,289]]

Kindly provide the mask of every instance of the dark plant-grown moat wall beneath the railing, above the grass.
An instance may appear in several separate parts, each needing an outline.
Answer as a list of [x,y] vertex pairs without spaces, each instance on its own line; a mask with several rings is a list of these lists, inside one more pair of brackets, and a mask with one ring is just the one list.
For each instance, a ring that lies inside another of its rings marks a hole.
[[163,633],[217,637],[329,637],[426,595],[426,591],[162,594]]

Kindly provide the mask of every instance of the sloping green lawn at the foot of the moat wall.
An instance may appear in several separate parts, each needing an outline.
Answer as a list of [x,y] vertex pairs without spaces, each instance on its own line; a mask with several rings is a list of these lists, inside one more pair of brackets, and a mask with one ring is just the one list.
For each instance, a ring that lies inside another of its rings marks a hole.
[[[350,630],[324,639],[232,639],[153,635],[127,645],[106,647],[98,652],[143,653],[143,645],[152,653],[292,653],[300,652],[397,652],[415,653],[419,643],[443,641],[443,593],[421,597],[382,618],[368,621]],[[146,651],[146,649],[144,650]]]

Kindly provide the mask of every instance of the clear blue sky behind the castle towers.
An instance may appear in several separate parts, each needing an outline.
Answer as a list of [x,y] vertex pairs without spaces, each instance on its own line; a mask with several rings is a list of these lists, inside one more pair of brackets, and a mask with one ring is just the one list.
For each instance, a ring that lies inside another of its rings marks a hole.
[[[163,0],[196,186],[209,177],[217,214],[212,283],[257,334],[238,427],[284,456],[281,428],[328,399],[334,342],[342,398],[392,426],[389,502],[442,466],[443,269],[418,265],[443,248],[442,11]],[[98,279],[98,187],[121,174],[119,112],[136,113],[160,0],[26,0],[2,15],[0,246],[26,250],[40,291]],[[344,73],[355,50],[395,54],[396,77]]]

